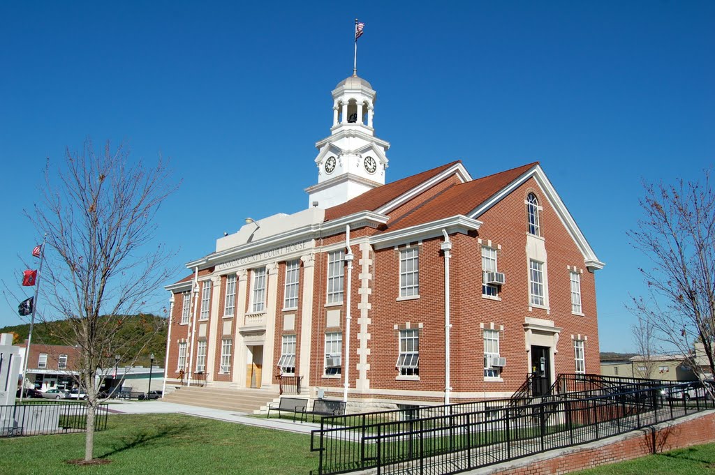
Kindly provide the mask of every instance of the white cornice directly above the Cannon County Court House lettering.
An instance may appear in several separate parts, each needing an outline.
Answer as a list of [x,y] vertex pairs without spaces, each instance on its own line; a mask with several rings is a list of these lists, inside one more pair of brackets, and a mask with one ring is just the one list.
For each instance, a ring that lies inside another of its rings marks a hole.
[[[195,267],[198,267],[199,270],[205,269],[207,267],[221,264],[225,261],[240,259],[245,256],[253,256],[255,254],[260,254],[263,251],[271,251],[272,249],[289,246],[290,244],[310,241],[311,239],[316,239],[320,236],[325,237],[332,234],[339,234],[341,232],[345,232],[346,224],[350,224],[355,228],[365,226],[377,228],[380,224],[386,224],[387,222],[388,216],[384,216],[373,211],[360,211],[359,213],[342,216],[341,218],[333,221],[308,224],[306,226],[301,226],[300,228],[291,229],[290,231],[269,236],[265,239],[260,239],[259,241],[235,246],[231,249],[226,249],[225,251],[215,252],[203,257],[202,259],[187,262],[186,266],[189,269],[194,269]],[[165,287],[165,289],[169,290],[167,287]]]

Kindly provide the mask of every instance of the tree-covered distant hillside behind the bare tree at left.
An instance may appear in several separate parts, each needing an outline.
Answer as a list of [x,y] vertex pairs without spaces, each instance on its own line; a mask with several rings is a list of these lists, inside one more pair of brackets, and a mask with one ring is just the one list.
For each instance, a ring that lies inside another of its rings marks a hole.
[[[109,318],[109,317],[103,317]],[[147,347],[142,350],[137,359],[137,365],[149,366],[149,354],[154,353],[154,364],[164,366],[164,356],[167,351],[167,320],[157,315],[129,315],[122,317],[122,329],[118,338],[129,342],[127,354],[137,354],[140,345],[132,345],[132,341],[141,341],[142,335],[151,333],[157,326],[159,331],[152,336]],[[32,343],[44,343],[48,345],[63,345],[66,341],[59,338],[58,334],[66,334],[66,321],[50,321],[47,323],[35,324],[32,334]],[[0,328],[0,333],[16,333],[19,338],[16,343],[21,343],[27,339],[30,325],[5,326]]]

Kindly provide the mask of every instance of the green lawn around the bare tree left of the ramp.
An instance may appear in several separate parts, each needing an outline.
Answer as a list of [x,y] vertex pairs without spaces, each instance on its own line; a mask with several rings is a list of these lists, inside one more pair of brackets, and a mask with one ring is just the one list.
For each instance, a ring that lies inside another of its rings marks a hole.
[[84,456],[84,434],[0,439],[0,474],[308,474],[310,436],[180,414],[111,415],[97,432],[101,466]]

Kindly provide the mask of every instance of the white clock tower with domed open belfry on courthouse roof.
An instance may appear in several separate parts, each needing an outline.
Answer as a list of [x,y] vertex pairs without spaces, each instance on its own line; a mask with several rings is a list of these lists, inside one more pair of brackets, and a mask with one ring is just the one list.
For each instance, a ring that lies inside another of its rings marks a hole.
[[390,144],[375,137],[375,91],[356,75],[332,91],[330,136],[315,144],[317,184],[305,191],[308,206],[330,208],[385,184]]

